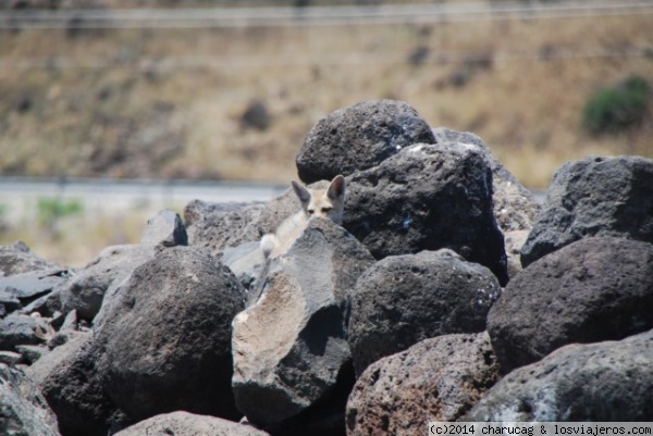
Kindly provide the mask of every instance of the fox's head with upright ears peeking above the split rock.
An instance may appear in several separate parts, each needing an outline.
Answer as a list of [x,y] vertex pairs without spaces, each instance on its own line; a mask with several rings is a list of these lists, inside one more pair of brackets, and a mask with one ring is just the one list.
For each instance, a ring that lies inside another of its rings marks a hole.
[[326,189],[308,189],[295,180],[292,185],[308,219],[323,216],[342,224],[345,209],[345,177],[335,176]]

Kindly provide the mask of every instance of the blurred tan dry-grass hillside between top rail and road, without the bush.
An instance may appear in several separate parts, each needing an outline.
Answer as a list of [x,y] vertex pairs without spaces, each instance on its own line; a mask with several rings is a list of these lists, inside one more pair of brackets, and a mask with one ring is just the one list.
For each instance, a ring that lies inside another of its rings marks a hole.
[[[629,74],[653,78],[651,58],[629,55],[650,48],[652,36],[648,15],[76,39],[24,30],[3,37],[3,172],[286,180],[320,117],[394,98],[433,126],[480,135],[527,186],[541,188],[559,164],[589,153],[653,155],[651,122],[607,138],[589,137],[580,122],[600,87]],[[426,63],[411,65],[418,47],[429,49]],[[23,67],[25,59],[40,65]],[[67,66],[52,66],[62,60]],[[16,111],[22,99],[29,107]],[[251,101],[267,104],[268,129],[239,124]],[[161,138],[148,144],[157,129]],[[175,145],[161,146],[164,137]],[[126,162],[138,159],[150,162]]]

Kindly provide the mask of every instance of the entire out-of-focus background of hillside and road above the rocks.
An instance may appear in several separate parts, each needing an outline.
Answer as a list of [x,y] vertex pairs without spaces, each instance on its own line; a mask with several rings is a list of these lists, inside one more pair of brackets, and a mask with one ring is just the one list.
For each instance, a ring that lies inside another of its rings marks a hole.
[[531,189],[653,158],[652,24],[651,0],[0,0],[0,245],[81,266],[163,207],[266,200],[370,99],[479,135]]

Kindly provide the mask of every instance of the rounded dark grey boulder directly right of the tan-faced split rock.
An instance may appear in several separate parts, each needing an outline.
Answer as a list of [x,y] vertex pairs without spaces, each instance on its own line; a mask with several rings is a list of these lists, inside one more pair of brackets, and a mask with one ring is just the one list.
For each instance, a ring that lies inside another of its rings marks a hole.
[[359,277],[352,297],[349,346],[356,374],[420,340],[483,332],[500,295],[486,267],[451,250],[383,259]]

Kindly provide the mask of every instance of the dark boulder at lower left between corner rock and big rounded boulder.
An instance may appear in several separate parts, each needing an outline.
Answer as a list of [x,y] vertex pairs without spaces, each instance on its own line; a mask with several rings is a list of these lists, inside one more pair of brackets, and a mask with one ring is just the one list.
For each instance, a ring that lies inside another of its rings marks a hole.
[[64,436],[104,436],[115,406],[102,388],[93,333],[82,333],[26,370],[59,420]]

